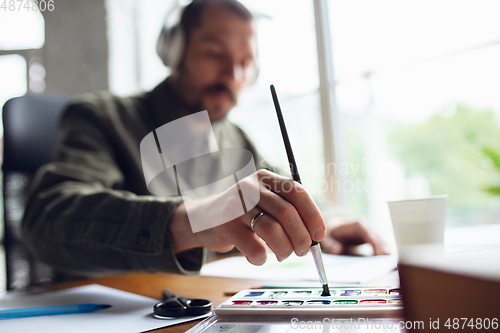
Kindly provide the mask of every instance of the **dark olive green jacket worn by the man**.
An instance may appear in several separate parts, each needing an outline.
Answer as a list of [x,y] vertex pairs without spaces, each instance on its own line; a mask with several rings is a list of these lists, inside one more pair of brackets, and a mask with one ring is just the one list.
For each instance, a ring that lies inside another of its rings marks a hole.
[[[85,95],[60,122],[53,162],[37,173],[23,220],[26,243],[56,270],[78,275],[124,271],[197,273],[202,248],[174,254],[169,223],[180,196],[151,195],[139,144],[181,117],[165,80],[153,91],[122,98]],[[214,124],[219,148],[245,148],[263,160],[243,131]]]

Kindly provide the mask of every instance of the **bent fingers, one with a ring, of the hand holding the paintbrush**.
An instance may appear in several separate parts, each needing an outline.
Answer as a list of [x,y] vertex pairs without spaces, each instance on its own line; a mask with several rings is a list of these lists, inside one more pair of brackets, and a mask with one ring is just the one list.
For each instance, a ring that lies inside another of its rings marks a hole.
[[[223,243],[234,244],[251,263],[257,265],[265,262],[265,254],[261,253],[263,245],[258,237],[267,243],[279,261],[292,252],[299,256],[307,254],[311,240],[320,241],[326,234],[323,217],[311,196],[302,185],[286,177],[265,170],[259,170],[257,176],[259,183],[242,180],[239,187],[243,193],[249,193],[259,186],[258,206],[233,221],[238,223],[229,227],[228,237]],[[245,232],[235,228],[238,224],[241,226],[239,222],[250,227],[250,221],[260,212],[265,214],[254,225],[254,232],[250,228],[244,228]],[[253,239],[249,239],[246,233],[251,233]]]

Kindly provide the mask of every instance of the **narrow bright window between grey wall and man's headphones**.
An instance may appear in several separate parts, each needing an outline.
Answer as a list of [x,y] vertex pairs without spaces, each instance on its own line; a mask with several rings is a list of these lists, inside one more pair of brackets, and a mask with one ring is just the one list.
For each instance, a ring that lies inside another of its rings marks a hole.
[[174,1],[106,0],[109,89],[130,95],[153,89],[169,70],[156,54],[156,41]]

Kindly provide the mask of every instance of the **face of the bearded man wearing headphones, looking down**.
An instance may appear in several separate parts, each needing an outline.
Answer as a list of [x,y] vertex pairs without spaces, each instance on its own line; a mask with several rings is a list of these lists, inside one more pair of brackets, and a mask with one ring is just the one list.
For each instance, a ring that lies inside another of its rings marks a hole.
[[224,118],[256,75],[255,49],[252,21],[217,5],[205,8],[174,75],[188,111]]

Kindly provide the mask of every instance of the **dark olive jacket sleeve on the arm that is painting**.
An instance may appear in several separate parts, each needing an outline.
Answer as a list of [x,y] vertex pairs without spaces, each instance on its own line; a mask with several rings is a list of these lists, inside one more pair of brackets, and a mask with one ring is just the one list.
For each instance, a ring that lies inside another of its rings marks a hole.
[[110,131],[96,105],[68,106],[54,162],[32,184],[23,220],[27,245],[42,261],[71,274],[197,273],[204,250],[174,254],[171,246],[169,224],[181,198],[123,190],[128,180]]

